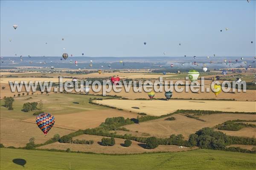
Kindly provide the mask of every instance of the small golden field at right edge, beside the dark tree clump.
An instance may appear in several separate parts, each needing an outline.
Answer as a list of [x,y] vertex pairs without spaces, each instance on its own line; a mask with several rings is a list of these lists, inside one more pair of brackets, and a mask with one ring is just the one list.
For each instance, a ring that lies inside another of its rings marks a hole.
[[244,127],[238,131],[232,131],[232,130],[218,130],[223,133],[226,133],[230,136],[245,136],[245,137],[256,137],[256,127]]

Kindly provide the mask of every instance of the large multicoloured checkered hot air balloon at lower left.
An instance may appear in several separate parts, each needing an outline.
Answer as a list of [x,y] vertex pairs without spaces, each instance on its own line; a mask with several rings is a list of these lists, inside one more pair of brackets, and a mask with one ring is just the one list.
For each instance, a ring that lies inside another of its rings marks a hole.
[[55,120],[54,116],[50,113],[41,113],[40,115],[36,116],[35,122],[46,136],[49,130],[54,125]]

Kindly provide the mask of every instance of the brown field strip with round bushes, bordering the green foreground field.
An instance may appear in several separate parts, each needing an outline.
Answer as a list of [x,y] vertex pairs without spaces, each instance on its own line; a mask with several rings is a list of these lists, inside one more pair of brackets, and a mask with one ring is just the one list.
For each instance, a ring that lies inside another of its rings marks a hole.
[[[189,147],[178,148],[176,145],[159,145],[155,149],[145,149],[145,144],[132,141],[130,147],[123,147],[121,144],[124,143],[125,139],[115,138],[116,144],[114,146],[102,146],[100,145],[101,139],[103,136],[94,136],[94,135],[81,135],[74,137],[73,139],[86,139],[93,140],[93,144],[69,144],[69,143],[59,143],[55,142],[53,144],[47,144],[45,146],[41,146],[38,148],[41,149],[60,149],[67,150],[70,148],[71,150],[76,151],[84,151],[84,152],[94,152],[94,153],[111,153],[111,154],[124,154],[124,153],[144,153],[144,152],[177,152],[177,151],[185,151],[192,150]],[[195,149],[195,148],[193,148]]]

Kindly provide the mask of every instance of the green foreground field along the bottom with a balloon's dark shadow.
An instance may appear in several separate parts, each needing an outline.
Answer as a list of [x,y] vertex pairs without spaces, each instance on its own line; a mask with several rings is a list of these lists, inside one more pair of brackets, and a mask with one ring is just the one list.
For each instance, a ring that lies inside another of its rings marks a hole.
[[[256,155],[192,150],[140,155],[97,155],[1,148],[1,170],[255,170]],[[12,162],[24,159],[24,167]]]

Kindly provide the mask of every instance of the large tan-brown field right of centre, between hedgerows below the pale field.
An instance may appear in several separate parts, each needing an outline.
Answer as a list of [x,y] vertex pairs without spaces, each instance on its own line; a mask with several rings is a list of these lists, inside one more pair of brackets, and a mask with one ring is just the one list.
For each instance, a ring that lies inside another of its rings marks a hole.
[[[172,134],[182,134],[185,139],[188,139],[189,135],[202,129],[203,127],[214,127],[220,123],[226,122],[227,120],[244,119],[254,120],[255,115],[252,114],[211,114],[199,116],[200,119],[206,122],[199,121],[197,119],[188,118],[181,114],[172,115],[176,120],[167,121],[162,119],[151,120],[148,122],[141,122],[140,124],[125,125],[127,129],[132,132],[139,131],[139,133],[149,133],[151,136],[157,137],[169,137]],[[231,131],[229,131],[231,132]],[[126,132],[130,134],[131,132]],[[244,132],[247,134],[247,132]],[[252,134],[249,132],[248,134]],[[244,134],[240,134],[244,135]]]

